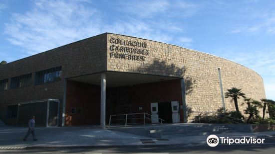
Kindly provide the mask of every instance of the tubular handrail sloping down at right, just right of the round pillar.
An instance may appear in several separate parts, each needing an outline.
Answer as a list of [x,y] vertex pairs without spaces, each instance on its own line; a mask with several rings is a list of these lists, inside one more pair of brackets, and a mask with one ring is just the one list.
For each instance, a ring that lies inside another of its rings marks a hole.
[[[129,115],[141,115],[141,114],[143,114],[143,118],[129,118]],[[151,118],[146,117],[146,115],[147,115],[147,116],[151,116]],[[161,118],[152,116],[151,114],[148,114],[148,113],[116,114],[116,115],[110,115],[110,119],[109,119],[109,128],[110,128],[110,126],[111,126],[112,117],[114,117],[114,116],[125,116],[125,119],[115,119],[115,120],[125,120],[125,127],[127,127],[127,120],[130,120],[130,119],[143,119],[143,127],[145,126],[145,119],[151,120],[151,121],[152,121],[152,117],[157,118],[159,124],[163,124],[163,122],[165,121],[165,120],[163,120],[163,119],[161,119]],[[161,122],[159,122],[159,120],[160,120]]]

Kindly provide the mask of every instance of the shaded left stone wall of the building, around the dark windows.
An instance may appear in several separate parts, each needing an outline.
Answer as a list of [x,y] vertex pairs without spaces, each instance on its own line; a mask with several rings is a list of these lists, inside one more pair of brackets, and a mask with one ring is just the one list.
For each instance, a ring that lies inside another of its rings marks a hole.
[[[52,98],[62,104],[64,78],[106,71],[106,50],[106,34],[101,34],[1,66],[0,80],[8,78],[8,86],[11,77],[32,73],[31,86],[0,91],[1,119],[14,124],[16,118],[5,118],[6,107],[20,102]],[[35,72],[59,66],[62,66],[60,81],[34,85]]]

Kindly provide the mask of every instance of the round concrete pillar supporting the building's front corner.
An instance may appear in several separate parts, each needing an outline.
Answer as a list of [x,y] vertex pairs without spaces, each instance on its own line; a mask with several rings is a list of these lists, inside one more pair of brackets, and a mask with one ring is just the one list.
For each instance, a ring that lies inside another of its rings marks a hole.
[[101,105],[100,105],[100,126],[105,129],[105,116],[106,116],[106,75],[101,74]]

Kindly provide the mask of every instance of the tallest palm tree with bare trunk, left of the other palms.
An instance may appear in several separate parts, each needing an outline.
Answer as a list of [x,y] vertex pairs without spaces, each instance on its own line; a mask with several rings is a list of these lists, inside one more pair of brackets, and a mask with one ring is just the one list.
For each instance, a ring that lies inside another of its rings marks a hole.
[[242,93],[242,89],[238,89],[236,87],[233,87],[231,89],[227,89],[228,92],[225,93],[225,98],[231,97],[234,100],[236,111],[240,113],[239,106],[238,106],[238,98],[240,96],[245,98],[245,93]]

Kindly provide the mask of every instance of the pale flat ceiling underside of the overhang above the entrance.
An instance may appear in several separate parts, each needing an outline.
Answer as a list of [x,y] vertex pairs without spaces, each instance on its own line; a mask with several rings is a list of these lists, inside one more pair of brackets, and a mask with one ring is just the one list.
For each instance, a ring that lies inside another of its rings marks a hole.
[[[141,83],[158,82],[164,80],[178,79],[178,77],[167,77],[167,76],[156,76],[156,75],[145,75],[145,74],[134,74],[134,73],[124,73],[124,72],[106,72],[106,86],[107,87],[117,87]],[[73,77],[70,80],[84,82],[94,85],[101,85],[101,73]]]

